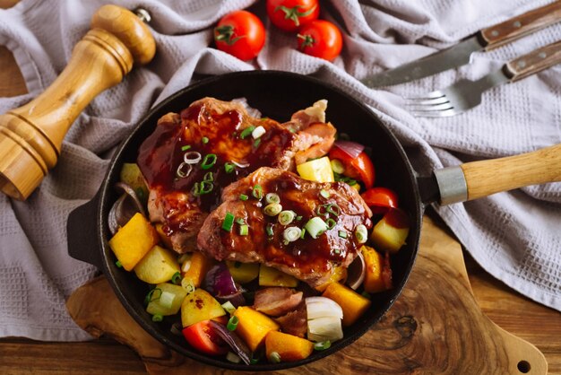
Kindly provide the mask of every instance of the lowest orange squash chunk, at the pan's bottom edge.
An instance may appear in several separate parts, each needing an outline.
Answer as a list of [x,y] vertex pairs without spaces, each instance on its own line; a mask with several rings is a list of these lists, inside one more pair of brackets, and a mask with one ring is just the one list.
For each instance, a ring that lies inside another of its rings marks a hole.
[[267,358],[276,352],[280,355],[280,362],[294,362],[309,357],[314,352],[314,344],[305,338],[271,331],[265,336],[265,352]]

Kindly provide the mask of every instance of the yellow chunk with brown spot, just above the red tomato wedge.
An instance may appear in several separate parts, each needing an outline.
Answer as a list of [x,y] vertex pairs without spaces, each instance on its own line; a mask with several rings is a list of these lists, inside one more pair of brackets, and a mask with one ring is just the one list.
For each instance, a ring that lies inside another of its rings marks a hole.
[[181,304],[181,324],[189,327],[203,320],[210,320],[226,315],[226,311],[220,306],[209,292],[203,289],[195,289],[187,294]]

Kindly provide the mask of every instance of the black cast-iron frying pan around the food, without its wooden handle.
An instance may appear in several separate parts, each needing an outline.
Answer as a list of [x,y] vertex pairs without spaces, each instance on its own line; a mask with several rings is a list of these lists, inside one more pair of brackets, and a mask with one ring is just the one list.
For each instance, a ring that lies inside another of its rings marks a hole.
[[[126,272],[115,265],[116,258],[108,246],[111,234],[108,231],[107,218],[111,205],[118,198],[113,187],[119,178],[121,165],[124,162],[136,161],[140,144],[148,135],[151,135],[158,118],[170,111],[179,112],[194,100],[205,96],[220,100],[244,97],[249,105],[259,109],[263,116],[275,118],[280,122],[288,120],[293,112],[306,108],[316,100],[328,100],[326,114],[328,120],[337,127],[339,132],[347,133],[351,139],[372,149],[372,160],[375,162],[376,168],[376,185],[395,190],[400,197],[401,208],[410,214],[412,224],[407,244],[392,257],[394,288],[388,292],[374,294],[371,308],[355,325],[344,330],[344,338],[341,341],[332,344],[327,350],[313,353],[303,361],[246,366],[243,363],[236,364],[227,362],[225,359],[197,353],[186,344],[182,336],[174,336],[170,333],[168,323],[151,321],[151,315],[145,311],[143,305],[148,286],[138,280],[134,273]],[[442,175],[444,177],[441,176],[438,183],[434,178],[417,178],[401,144],[382,121],[367,106],[330,84],[300,74],[275,71],[224,74],[194,83],[175,93],[142,119],[133,133],[120,145],[98,194],[89,203],[78,207],[70,214],[68,251],[72,257],[98,266],[107,276],[117,297],[129,314],[152,336],[178,353],[200,362],[232,370],[287,369],[314,362],[341,350],[362,336],[390,309],[393,301],[400,295],[415,262],[424,209],[429,202],[440,197],[437,185],[444,190],[445,199],[456,199],[460,196],[456,200],[465,200],[462,198],[462,187],[465,187],[465,181],[462,185],[462,179],[458,178],[457,170]],[[557,176],[558,179],[561,179],[561,173],[558,173]],[[533,181],[533,183],[538,182],[540,181]],[[487,194],[493,192],[488,189]],[[95,228],[96,230],[84,231],[84,228]]]

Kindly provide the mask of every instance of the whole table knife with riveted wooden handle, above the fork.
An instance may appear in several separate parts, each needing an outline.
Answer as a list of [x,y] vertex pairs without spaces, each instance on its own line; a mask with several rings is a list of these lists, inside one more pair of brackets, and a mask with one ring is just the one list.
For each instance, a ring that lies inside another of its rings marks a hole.
[[561,0],[478,31],[451,48],[380,74],[371,75],[363,79],[362,83],[372,88],[391,86],[444,72],[468,64],[471,54],[475,51],[488,51],[503,46],[558,21],[561,21]]

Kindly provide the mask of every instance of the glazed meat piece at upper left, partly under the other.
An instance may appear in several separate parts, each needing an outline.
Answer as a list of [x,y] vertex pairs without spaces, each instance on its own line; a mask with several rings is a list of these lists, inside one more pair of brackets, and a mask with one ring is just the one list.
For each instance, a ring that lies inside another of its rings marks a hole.
[[325,142],[303,133],[311,126],[332,128],[320,121],[323,110],[285,125],[252,117],[238,101],[204,98],[163,116],[137,160],[150,190],[151,222],[162,224],[177,252],[195,250],[196,234],[220,204],[222,188],[262,166],[289,170],[297,153]]

